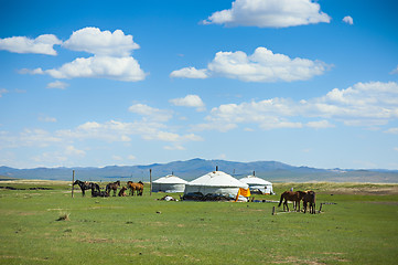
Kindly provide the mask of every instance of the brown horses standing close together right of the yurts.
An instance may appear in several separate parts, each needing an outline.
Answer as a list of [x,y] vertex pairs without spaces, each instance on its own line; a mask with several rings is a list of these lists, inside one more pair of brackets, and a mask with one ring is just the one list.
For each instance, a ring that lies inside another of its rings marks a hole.
[[288,209],[289,211],[289,206],[288,206],[288,201],[292,201],[293,202],[293,209],[298,212],[300,212],[300,203],[301,201],[303,201],[303,209],[304,209],[304,213],[306,212],[306,208],[309,208],[310,213],[315,213],[315,192],[308,190],[308,191],[284,191],[281,195],[280,195],[280,202],[279,205],[280,206],[283,202],[283,211],[286,211],[284,208]]

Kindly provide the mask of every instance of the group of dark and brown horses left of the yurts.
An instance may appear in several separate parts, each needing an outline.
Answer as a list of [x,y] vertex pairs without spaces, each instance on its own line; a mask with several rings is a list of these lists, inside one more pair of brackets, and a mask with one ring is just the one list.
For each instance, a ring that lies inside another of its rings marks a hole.
[[[82,195],[86,195],[86,190],[92,190],[92,197],[109,197],[110,192],[114,191],[114,197],[116,197],[116,193],[118,189],[120,188],[120,180],[117,180],[115,182],[110,182],[106,186],[105,190],[100,190],[99,184],[88,181],[80,181],[76,180],[73,186],[77,184],[82,190]],[[142,195],[143,193],[143,183],[142,181],[139,182],[132,182],[128,181],[127,187],[121,187],[120,191],[118,193],[119,197],[126,197],[126,191],[130,190],[130,194],[135,195]]]

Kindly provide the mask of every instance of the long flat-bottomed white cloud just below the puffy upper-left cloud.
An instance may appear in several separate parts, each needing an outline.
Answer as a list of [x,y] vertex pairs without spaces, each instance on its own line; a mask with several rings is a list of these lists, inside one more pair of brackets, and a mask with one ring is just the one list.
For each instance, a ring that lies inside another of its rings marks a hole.
[[78,57],[60,68],[46,70],[44,73],[54,78],[94,77],[126,82],[142,81],[146,73],[138,62],[129,57],[92,56]]

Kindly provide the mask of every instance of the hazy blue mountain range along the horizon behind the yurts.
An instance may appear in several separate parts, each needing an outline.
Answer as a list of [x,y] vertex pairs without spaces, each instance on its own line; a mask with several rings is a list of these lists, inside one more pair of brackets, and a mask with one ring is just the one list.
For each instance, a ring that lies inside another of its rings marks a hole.
[[72,180],[73,170],[75,170],[75,179],[79,180],[111,181],[114,179],[120,179],[149,181],[149,170],[151,169],[152,180],[173,172],[175,176],[191,181],[207,172],[216,170],[216,167],[218,167],[218,170],[236,178],[252,174],[255,171],[256,177],[273,182],[333,181],[398,183],[398,170],[316,169],[309,167],[293,167],[277,161],[233,162],[225,160],[204,160],[200,158],[148,166],[109,166],[104,168],[61,167],[14,169],[0,167],[0,176],[17,179]]

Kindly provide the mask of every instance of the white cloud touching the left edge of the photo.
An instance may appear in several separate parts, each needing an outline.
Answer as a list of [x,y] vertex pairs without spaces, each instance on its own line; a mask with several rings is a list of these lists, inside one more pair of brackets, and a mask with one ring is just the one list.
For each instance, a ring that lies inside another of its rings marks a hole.
[[0,50],[6,50],[13,53],[37,53],[56,55],[54,45],[62,44],[55,35],[43,34],[36,39],[29,39],[26,36],[11,36],[0,39]]

